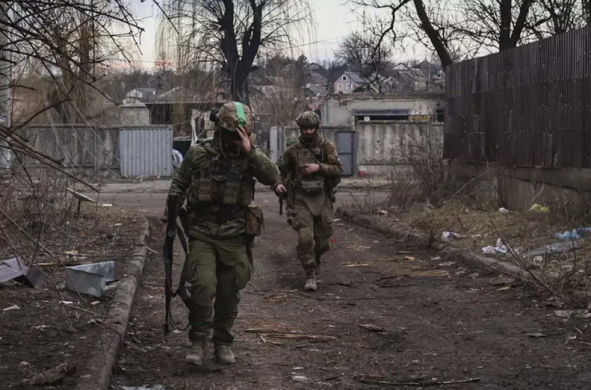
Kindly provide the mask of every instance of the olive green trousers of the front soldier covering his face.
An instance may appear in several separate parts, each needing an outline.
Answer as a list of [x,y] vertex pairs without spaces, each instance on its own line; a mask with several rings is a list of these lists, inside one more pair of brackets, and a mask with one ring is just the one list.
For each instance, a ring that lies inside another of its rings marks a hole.
[[[191,294],[189,339],[209,337],[215,345],[230,345],[238,316],[240,290],[251,278],[249,240],[238,237],[216,240],[197,233],[189,241],[187,283]],[[214,302],[215,299],[215,302]]]

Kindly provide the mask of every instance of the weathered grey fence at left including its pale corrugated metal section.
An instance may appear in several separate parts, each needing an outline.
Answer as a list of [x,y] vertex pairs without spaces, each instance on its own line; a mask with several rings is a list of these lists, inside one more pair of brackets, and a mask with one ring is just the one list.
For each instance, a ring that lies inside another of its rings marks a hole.
[[[172,175],[171,126],[101,127],[80,124],[36,125],[20,131],[28,144],[51,158],[62,160],[69,171],[98,177]],[[34,171],[46,166],[18,156],[16,166]]]

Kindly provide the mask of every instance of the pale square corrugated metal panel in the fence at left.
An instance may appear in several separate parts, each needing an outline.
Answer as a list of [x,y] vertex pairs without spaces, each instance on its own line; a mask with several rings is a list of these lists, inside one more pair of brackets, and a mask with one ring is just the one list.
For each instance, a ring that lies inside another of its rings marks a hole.
[[126,126],[119,130],[121,175],[173,175],[173,127]]

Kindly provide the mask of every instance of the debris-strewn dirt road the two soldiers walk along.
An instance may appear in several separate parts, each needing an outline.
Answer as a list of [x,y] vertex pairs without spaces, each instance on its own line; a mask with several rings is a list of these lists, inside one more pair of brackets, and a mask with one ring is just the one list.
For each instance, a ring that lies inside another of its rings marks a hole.
[[[141,209],[155,223],[164,197],[126,192],[115,203]],[[496,278],[473,274],[455,259],[439,259],[343,222],[336,222],[336,248],[324,258],[319,291],[304,293],[294,232],[277,214],[273,194],[258,194],[256,201],[265,207],[266,230],[255,247],[252,286],[243,291],[239,307],[236,364],[221,367],[209,360],[202,370],[184,364],[186,332],[163,335],[163,266],[160,258],[151,258],[113,389],[375,387],[359,376],[415,382],[479,378],[439,387],[456,389],[591,388],[591,329],[584,330],[589,319],[567,322],[550,307],[555,303],[527,288],[495,283]],[[158,225],[152,248],[160,250],[160,236]],[[180,263],[180,245],[176,252]],[[174,270],[176,276],[179,271]],[[184,327],[186,312],[178,299],[174,310]]]

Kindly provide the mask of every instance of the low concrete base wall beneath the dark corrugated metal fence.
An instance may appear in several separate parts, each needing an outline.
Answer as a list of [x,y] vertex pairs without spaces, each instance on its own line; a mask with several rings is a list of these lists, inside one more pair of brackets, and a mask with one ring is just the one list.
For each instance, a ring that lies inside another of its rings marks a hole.
[[527,210],[532,204],[580,214],[591,204],[591,169],[544,169],[452,160],[454,179],[482,202]]

